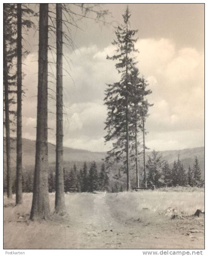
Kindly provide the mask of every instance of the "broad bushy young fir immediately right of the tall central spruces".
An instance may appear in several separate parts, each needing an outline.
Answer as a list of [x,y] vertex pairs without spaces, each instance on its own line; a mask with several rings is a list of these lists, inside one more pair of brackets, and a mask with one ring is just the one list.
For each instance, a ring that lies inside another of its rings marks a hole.
[[162,169],[164,161],[162,155],[153,150],[152,156],[149,156],[146,168],[148,168],[147,183],[149,186],[155,185],[159,188],[163,185]]

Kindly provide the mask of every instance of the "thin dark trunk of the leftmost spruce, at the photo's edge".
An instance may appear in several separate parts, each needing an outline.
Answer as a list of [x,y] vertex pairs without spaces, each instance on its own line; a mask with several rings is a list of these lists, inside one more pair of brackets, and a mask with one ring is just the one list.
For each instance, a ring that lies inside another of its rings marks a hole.
[[5,104],[5,128],[6,128],[6,156],[7,156],[7,197],[12,198],[12,172],[10,159],[10,127],[9,127],[9,86],[8,86],[8,62],[6,46],[6,21],[3,19],[3,82]]

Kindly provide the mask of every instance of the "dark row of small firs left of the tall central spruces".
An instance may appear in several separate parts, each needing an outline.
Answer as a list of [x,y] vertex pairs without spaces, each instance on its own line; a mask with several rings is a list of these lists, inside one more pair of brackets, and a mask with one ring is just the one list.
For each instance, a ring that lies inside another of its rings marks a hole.
[[[109,177],[105,164],[90,164],[84,162],[83,167],[78,169],[80,164],[73,164],[73,167],[64,167],[64,192],[93,192],[110,191]],[[56,191],[56,174],[54,166],[49,166],[48,171],[49,193]],[[22,174],[22,191],[24,193],[33,192],[33,168],[27,168]],[[16,179],[14,178],[14,181]],[[16,182],[13,182],[13,193],[16,191]],[[7,182],[4,181],[3,192],[7,191]]]

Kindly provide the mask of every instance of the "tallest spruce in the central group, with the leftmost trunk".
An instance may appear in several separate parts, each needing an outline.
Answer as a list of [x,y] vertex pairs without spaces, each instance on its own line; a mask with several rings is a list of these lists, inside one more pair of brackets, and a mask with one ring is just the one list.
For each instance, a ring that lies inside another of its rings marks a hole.
[[129,28],[130,12],[128,7],[123,15],[124,24],[116,29],[116,40],[112,43],[117,47],[117,52],[112,57],[107,56],[107,59],[115,60],[116,69],[121,74],[119,82],[108,85],[106,89],[105,104],[107,105],[108,113],[106,119],[106,127],[108,134],[105,136],[105,141],[116,140],[113,143],[113,149],[108,151],[108,162],[111,157],[119,161],[123,153],[126,154],[126,173],[127,173],[127,191],[130,189],[129,178],[129,104],[131,83],[130,74],[135,66],[135,60],[132,53],[136,52],[134,36],[136,30]]

